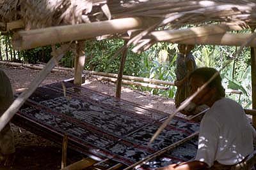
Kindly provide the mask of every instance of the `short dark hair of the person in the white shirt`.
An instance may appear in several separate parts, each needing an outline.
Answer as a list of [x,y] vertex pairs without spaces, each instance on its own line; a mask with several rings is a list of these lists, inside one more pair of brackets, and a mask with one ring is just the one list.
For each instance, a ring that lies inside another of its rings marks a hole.
[[221,97],[225,97],[225,89],[221,84],[220,73],[211,67],[200,67],[195,69],[191,74],[189,74],[189,80],[193,76],[199,76],[204,80],[204,82],[208,81],[215,73],[218,73],[217,76],[209,83],[208,87],[215,87],[218,90],[218,93]]

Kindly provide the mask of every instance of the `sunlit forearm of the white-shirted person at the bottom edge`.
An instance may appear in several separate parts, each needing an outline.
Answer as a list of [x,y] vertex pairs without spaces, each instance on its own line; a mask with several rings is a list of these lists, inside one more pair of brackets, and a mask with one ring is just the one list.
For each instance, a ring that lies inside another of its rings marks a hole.
[[198,160],[193,160],[191,162],[183,162],[181,164],[171,164],[170,166],[161,167],[157,170],[196,170],[204,169],[207,164],[200,162]]

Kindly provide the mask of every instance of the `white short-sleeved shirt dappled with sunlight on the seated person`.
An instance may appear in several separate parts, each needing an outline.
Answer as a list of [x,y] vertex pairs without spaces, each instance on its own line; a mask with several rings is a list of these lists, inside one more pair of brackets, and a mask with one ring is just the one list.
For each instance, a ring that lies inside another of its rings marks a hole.
[[243,108],[222,98],[202,118],[195,160],[209,167],[215,160],[224,165],[237,164],[253,152],[255,134]]

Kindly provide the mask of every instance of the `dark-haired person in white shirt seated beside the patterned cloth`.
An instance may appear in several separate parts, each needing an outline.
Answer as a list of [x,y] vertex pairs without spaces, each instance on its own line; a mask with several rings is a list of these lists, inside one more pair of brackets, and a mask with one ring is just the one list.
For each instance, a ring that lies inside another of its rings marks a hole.
[[[201,67],[189,75],[190,93],[204,85],[216,69]],[[195,160],[161,167],[159,170],[230,169],[253,152],[255,129],[248,122],[243,108],[225,98],[225,89],[218,76],[194,99],[196,105],[210,107],[200,123]]]

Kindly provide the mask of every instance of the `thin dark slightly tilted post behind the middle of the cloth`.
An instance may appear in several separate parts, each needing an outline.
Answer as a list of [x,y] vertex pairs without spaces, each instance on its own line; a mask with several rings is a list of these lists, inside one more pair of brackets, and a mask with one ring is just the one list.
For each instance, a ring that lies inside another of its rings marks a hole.
[[[127,44],[127,41],[124,42],[124,46],[126,44]],[[127,48],[125,48],[124,52],[122,53],[120,67],[119,67],[117,81],[116,81],[116,97],[118,99],[121,98],[122,78],[124,73],[124,64],[125,64],[126,56],[127,56]]]

